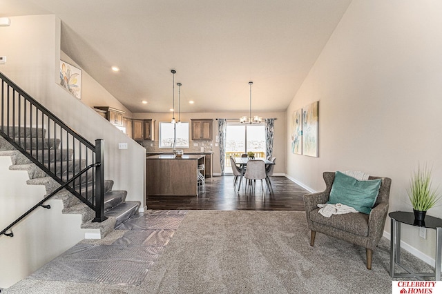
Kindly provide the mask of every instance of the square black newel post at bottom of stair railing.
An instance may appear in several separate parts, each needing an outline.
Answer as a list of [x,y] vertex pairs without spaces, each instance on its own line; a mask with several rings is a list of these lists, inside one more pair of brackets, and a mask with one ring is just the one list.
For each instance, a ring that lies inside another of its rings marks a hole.
[[95,219],[103,222],[104,216],[104,139],[95,140]]

